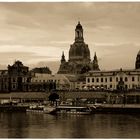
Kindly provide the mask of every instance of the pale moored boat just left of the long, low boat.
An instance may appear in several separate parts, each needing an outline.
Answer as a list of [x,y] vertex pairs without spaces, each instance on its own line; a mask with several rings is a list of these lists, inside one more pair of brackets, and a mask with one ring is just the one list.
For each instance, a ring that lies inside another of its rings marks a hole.
[[29,106],[29,108],[26,110],[26,112],[35,112],[35,113],[45,113],[45,114],[55,114],[56,108],[53,106],[37,106],[37,105],[32,105]]

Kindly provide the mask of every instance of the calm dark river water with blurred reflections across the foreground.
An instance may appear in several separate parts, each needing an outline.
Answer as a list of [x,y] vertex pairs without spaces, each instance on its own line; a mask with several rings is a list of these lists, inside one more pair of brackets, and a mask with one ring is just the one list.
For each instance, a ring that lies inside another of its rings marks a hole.
[[0,138],[140,138],[140,115],[0,113]]

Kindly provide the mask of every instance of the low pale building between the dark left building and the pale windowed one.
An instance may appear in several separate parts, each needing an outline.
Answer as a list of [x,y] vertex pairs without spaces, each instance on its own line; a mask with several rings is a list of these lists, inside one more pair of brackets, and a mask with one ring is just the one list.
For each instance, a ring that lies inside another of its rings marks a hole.
[[35,73],[29,87],[30,91],[70,90],[74,88],[74,80],[70,75]]

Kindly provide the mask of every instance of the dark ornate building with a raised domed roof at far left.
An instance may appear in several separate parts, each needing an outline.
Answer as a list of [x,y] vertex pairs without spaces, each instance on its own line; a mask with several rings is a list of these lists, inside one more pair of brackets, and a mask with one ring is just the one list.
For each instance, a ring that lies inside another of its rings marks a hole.
[[8,65],[8,70],[0,71],[0,92],[27,91],[30,79],[29,68],[15,61],[13,65]]

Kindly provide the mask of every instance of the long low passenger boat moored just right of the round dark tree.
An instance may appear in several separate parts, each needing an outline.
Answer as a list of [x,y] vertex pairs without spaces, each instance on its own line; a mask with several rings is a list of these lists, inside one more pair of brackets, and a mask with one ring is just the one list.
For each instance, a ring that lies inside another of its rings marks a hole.
[[57,106],[56,114],[89,115],[92,113],[90,107],[82,106]]

